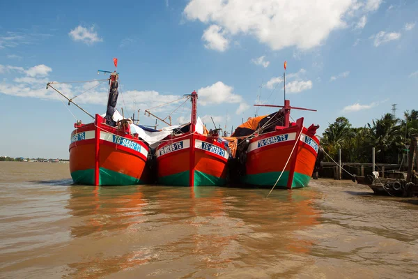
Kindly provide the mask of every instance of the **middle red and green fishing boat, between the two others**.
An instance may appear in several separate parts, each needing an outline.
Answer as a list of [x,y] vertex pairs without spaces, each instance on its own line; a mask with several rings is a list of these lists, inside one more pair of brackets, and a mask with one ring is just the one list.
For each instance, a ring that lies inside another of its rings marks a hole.
[[226,183],[229,148],[216,131],[209,134],[197,118],[196,91],[187,96],[192,100],[191,122],[157,146],[157,181],[163,185],[222,186]]

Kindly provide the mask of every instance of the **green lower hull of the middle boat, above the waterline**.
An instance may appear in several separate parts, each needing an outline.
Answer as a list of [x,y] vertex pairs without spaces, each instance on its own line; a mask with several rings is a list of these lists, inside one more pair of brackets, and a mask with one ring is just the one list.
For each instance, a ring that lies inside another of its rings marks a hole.
[[[159,177],[158,183],[162,185],[189,186],[189,171]],[[225,183],[226,179],[194,171],[194,186],[222,186]]]

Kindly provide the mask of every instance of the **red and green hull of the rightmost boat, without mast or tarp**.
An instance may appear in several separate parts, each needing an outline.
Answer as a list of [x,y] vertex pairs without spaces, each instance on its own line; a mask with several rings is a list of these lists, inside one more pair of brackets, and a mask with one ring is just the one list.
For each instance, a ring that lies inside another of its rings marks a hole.
[[314,133],[298,119],[295,126],[252,138],[242,182],[288,189],[308,186],[318,155],[319,140]]

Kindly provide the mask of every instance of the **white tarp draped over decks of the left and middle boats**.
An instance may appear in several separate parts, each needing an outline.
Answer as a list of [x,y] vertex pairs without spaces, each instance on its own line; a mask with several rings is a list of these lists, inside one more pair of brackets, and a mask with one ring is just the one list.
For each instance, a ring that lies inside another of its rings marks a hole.
[[[104,116],[106,116],[106,114],[102,114],[102,117]],[[113,119],[117,122],[122,120],[123,116],[118,112],[118,110],[115,110]],[[141,139],[146,143],[148,143],[151,148],[156,148],[158,144],[160,144],[160,141],[164,139],[164,137],[167,137],[171,134],[172,130],[185,126],[186,124],[164,127],[157,132],[148,132],[135,124],[130,124],[130,130],[132,134],[137,133],[138,136],[141,137]],[[203,122],[200,117],[198,117],[196,121],[196,132],[203,135]]]

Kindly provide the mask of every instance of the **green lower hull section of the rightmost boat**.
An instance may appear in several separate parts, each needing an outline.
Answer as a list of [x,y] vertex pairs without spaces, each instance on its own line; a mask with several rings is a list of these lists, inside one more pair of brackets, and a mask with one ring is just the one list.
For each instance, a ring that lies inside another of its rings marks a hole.
[[[277,179],[279,178],[281,172],[266,172],[263,174],[247,174],[242,179],[242,182],[256,185],[256,186],[274,186]],[[279,182],[276,184],[276,188],[287,188],[289,172],[284,172],[283,175],[280,177]],[[292,181],[292,188],[303,188],[308,186],[309,181],[311,180],[311,176],[307,176],[305,174],[300,174],[295,172]]]

